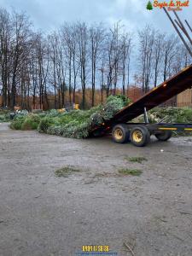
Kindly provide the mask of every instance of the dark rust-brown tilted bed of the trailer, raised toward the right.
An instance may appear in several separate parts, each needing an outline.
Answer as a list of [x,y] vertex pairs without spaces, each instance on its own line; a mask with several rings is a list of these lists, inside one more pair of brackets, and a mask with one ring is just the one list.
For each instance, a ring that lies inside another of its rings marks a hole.
[[177,73],[171,79],[166,80],[158,87],[150,90],[147,94],[139,98],[136,102],[126,106],[118,113],[116,113],[112,119],[108,120],[102,127],[93,127],[92,131],[104,131],[110,130],[113,125],[119,123],[127,123],[131,119],[137,118],[143,114],[144,108],[150,110],[157,107],[163,102],[171,99],[173,96],[181,93],[183,90],[187,90],[192,87],[192,65],[184,68],[181,72]]

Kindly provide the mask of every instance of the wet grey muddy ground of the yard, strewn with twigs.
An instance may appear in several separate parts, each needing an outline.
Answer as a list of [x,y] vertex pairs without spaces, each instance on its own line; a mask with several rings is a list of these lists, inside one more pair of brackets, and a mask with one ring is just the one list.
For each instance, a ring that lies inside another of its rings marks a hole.
[[[192,255],[191,153],[191,137],[136,148],[1,124],[0,255],[73,256],[83,245],[133,255],[124,242],[136,256]],[[56,177],[63,166],[80,172]]]

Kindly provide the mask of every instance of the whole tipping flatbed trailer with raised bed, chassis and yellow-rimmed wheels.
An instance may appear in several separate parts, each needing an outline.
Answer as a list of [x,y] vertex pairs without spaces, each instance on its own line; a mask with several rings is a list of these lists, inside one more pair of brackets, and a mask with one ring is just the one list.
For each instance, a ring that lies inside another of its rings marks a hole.
[[[192,124],[149,124],[147,114],[148,110],[190,88],[192,88],[192,65],[120,110],[101,126],[93,127],[90,135],[112,133],[115,143],[126,143],[130,140],[135,146],[143,147],[149,143],[151,135],[160,141],[167,141],[172,137],[172,131],[192,131]],[[143,113],[144,123],[130,122]]]

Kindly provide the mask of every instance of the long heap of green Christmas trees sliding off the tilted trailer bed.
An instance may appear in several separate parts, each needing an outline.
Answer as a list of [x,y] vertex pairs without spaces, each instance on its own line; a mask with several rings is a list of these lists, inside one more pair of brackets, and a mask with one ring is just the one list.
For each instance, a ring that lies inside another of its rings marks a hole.
[[73,110],[58,113],[55,109],[46,113],[15,117],[11,128],[17,130],[35,130],[51,135],[73,138],[88,137],[92,127],[102,125],[113,118],[113,115],[124,108],[129,99],[125,96],[109,96],[106,104],[90,110]]

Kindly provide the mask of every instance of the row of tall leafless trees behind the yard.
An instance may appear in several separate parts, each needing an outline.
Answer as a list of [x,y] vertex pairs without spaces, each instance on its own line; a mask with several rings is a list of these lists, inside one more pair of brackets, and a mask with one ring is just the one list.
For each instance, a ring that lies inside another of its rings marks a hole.
[[115,94],[125,95],[131,85],[148,91],[191,62],[187,50],[171,33],[146,25],[129,32],[121,22],[105,24],[64,23],[54,32],[37,32],[24,13],[0,9],[0,94],[3,106],[13,108],[17,97],[23,108],[47,104],[55,108],[75,102],[91,91],[90,106]]

